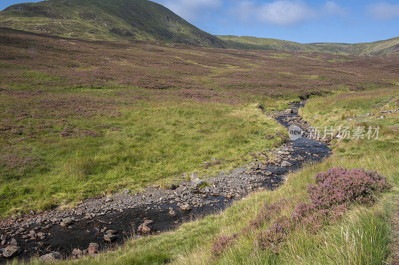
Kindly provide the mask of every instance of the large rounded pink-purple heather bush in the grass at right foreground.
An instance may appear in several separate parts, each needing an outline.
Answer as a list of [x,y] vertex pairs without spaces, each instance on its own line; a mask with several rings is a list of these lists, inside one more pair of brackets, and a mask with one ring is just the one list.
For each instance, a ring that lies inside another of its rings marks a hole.
[[391,188],[386,177],[364,169],[347,170],[332,168],[318,173],[316,184],[309,185],[307,192],[319,207],[329,207],[350,202],[370,205],[377,196]]

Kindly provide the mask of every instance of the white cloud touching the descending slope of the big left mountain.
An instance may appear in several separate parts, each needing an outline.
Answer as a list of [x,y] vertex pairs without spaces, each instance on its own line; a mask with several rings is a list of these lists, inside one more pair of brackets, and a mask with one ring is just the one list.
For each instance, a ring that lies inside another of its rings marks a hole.
[[222,0],[159,0],[158,2],[189,21],[198,21],[204,13],[220,9],[223,5]]

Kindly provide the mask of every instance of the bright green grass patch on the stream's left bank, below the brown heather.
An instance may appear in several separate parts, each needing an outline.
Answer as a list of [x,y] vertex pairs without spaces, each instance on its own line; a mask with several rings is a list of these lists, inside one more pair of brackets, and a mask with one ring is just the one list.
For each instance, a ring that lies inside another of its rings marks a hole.
[[[282,140],[262,139],[282,128],[256,104],[139,101],[118,110],[120,116],[68,119],[74,128],[95,131],[97,137],[64,138],[59,134],[62,126],[55,124],[38,139],[15,143],[14,151],[3,149],[12,158],[23,161],[26,153],[34,160],[31,165],[0,168],[1,214],[75,203],[106,189],[139,189],[179,179],[184,172],[213,174]],[[23,124],[35,130],[40,119],[29,118]],[[206,170],[200,166],[211,158],[222,163]]]

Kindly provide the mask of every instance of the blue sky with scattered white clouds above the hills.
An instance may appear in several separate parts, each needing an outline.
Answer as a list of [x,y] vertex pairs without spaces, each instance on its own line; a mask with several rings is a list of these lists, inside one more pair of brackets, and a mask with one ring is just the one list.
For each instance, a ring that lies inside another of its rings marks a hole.
[[[154,0],[214,35],[300,43],[399,36],[399,0]],[[23,0],[0,0],[0,9]]]

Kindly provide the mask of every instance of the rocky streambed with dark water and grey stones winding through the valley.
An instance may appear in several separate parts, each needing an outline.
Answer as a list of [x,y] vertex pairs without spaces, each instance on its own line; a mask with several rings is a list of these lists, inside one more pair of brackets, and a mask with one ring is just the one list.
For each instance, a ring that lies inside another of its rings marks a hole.
[[302,106],[292,104],[290,109],[272,115],[287,128],[300,127],[304,135],[287,140],[280,148],[252,154],[255,160],[263,161],[271,154],[267,162],[254,162],[206,179],[193,173],[191,181],[172,184],[169,189],[126,190],[124,194],[87,199],[75,209],[1,220],[0,263],[12,258],[55,261],[94,257],[126,239],[176,229],[184,221],[224,209],[251,192],[278,187],[288,172],[330,154],[327,141],[306,137],[312,128],[298,115]]

